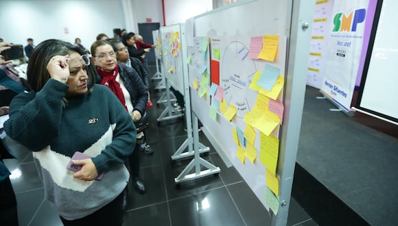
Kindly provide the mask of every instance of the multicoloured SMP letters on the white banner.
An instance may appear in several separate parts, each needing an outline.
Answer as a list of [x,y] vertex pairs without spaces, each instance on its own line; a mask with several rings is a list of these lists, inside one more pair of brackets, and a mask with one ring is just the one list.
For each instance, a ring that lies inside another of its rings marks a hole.
[[332,32],[356,32],[358,23],[364,22],[365,16],[365,9],[355,10],[355,12],[351,12],[349,16],[340,12],[333,18],[334,27]]

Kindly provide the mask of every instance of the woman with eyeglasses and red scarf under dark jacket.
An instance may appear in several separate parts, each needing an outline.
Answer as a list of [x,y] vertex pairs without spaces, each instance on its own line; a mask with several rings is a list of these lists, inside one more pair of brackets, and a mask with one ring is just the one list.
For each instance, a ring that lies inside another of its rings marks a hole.
[[[108,41],[95,41],[91,45],[91,53],[93,54],[92,60],[97,66],[97,83],[108,86],[124,106],[126,112],[131,115],[132,120],[139,121],[145,114],[148,92],[137,71],[117,62],[116,53]],[[128,162],[130,163],[132,184],[139,192],[144,193],[145,185],[139,178],[138,151],[133,151]]]

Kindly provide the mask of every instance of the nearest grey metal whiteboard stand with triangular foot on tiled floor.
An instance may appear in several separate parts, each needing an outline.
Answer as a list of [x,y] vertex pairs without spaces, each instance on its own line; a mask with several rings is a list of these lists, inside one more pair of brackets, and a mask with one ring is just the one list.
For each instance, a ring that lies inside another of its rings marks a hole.
[[[184,168],[184,170],[178,175],[178,177],[174,178],[176,184],[180,184],[184,181],[191,181],[194,179],[199,179],[202,177],[207,177],[209,175],[214,175],[216,173],[220,173],[220,168],[214,166],[210,162],[200,158],[200,151],[199,151],[199,131],[198,131],[198,117],[195,114],[192,114],[193,117],[193,127],[194,127],[194,159],[189,162],[189,164]],[[201,170],[200,166],[203,166],[204,170]],[[192,169],[195,167],[195,172],[190,173]]]

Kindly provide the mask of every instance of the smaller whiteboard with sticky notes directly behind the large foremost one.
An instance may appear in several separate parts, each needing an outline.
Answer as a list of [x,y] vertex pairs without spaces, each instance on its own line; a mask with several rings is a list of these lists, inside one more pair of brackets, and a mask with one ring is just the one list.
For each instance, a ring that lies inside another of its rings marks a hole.
[[[165,78],[169,84],[184,95],[184,62],[186,48],[183,24],[160,28],[162,60]],[[186,64],[185,64],[186,65]],[[185,66],[186,67],[186,66]]]

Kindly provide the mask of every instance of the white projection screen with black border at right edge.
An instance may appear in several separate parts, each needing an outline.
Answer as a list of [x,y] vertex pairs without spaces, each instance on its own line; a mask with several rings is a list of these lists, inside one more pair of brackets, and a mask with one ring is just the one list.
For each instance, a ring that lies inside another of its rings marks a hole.
[[398,62],[398,27],[394,24],[397,8],[398,1],[377,3],[359,95],[360,109],[395,124],[398,123],[398,76],[395,68]]

